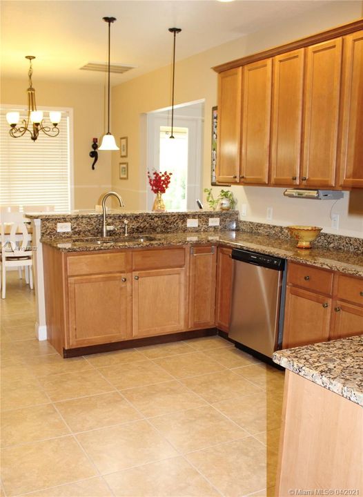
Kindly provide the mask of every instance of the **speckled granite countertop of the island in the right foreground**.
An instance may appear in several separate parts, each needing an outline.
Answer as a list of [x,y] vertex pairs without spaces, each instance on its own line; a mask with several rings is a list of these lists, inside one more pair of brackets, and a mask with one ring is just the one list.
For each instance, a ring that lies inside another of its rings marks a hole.
[[277,351],[273,360],[363,406],[363,336]]

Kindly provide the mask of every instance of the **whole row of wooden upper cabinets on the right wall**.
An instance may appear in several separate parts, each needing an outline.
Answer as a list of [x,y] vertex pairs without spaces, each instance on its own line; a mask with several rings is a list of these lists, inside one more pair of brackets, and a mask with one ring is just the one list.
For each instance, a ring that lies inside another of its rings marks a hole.
[[360,19],[214,68],[218,183],[363,188],[362,28]]

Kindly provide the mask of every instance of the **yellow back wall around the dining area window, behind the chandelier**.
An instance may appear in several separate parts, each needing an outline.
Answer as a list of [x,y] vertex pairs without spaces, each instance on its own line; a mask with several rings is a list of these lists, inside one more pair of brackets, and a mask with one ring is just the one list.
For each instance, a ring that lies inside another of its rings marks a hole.
[[[34,79],[37,107],[73,109],[74,124],[74,208],[94,208],[99,196],[110,190],[111,153],[100,152],[92,170],[89,157],[92,138],[104,133],[104,86]],[[1,79],[1,104],[27,104],[28,79]],[[23,137],[26,139],[26,137]],[[51,138],[50,138],[51,139]],[[37,143],[35,142],[35,146]]]

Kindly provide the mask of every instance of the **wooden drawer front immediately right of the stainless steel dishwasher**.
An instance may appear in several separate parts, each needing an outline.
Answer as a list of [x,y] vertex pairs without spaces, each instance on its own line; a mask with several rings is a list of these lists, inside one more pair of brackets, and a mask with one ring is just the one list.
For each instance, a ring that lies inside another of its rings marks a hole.
[[304,289],[327,293],[333,290],[333,273],[302,264],[288,264],[287,282]]

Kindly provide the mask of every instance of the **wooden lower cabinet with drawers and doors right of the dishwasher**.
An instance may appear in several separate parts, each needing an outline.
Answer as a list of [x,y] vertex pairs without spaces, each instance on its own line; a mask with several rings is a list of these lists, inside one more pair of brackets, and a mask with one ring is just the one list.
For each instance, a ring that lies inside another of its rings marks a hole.
[[363,278],[288,263],[282,347],[363,333]]

